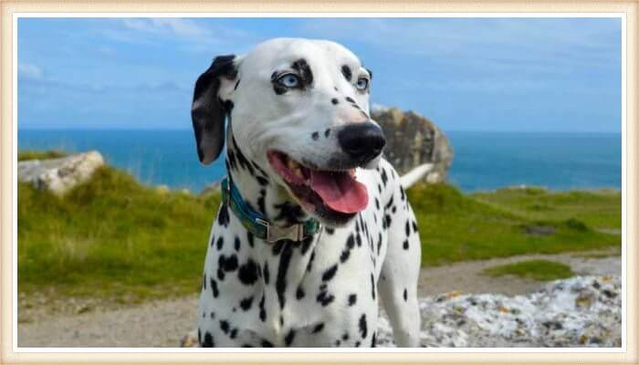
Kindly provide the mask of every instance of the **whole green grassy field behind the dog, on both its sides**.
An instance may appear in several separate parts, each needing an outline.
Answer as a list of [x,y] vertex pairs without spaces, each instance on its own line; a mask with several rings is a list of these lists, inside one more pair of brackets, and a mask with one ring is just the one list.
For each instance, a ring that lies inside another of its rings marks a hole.
[[[408,196],[424,266],[621,243],[597,231],[621,226],[620,193],[422,184]],[[161,192],[110,167],[62,198],[18,183],[19,291],[127,303],[194,293],[218,203],[217,193]]]

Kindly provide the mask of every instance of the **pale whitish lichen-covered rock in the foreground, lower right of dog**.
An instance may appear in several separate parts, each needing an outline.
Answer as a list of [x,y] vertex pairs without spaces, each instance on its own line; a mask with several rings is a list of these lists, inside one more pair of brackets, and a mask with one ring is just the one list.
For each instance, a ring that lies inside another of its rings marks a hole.
[[[621,347],[619,276],[574,276],[535,293],[446,293],[424,297],[425,347]],[[394,347],[391,326],[380,317],[378,345]]]

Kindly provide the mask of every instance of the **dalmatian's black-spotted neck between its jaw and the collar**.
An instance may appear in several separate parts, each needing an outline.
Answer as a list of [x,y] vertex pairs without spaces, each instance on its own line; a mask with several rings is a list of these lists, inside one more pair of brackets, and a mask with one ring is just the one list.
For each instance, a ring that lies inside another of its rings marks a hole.
[[246,157],[229,130],[226,144],[226,171],[230,181],[251,210],[272,224],[299,224],[310,218],[288,192],[271,179],[257,162]]

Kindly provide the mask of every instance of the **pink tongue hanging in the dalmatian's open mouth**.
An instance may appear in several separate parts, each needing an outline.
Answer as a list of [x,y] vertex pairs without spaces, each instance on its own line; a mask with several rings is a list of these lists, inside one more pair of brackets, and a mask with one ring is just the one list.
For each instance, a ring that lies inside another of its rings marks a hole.
[[357,213],[366,208],[368,192],[348,172],[310,171],[310,188],[318,193],[330,209],[341,213]]

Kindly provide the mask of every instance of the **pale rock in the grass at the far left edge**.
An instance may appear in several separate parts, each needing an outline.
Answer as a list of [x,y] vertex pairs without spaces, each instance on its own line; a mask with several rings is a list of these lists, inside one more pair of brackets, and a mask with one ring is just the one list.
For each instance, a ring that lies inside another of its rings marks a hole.
[[88,151],[59,159],[18,162],[17,178],[33,183],[37,189],[62,195],[86,182],[103,165],[104,159],[99,151]]

